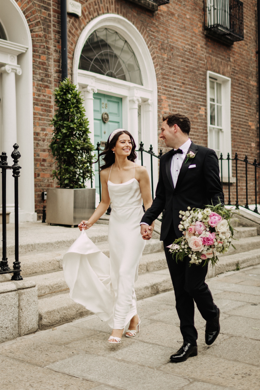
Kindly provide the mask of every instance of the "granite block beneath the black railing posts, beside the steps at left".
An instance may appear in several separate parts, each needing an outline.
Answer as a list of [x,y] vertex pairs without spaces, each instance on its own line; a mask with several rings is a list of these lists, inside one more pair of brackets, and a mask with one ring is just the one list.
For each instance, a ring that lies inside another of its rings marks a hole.
[[31,280],[0,283],[0,343],[38,329],[37,287]]

